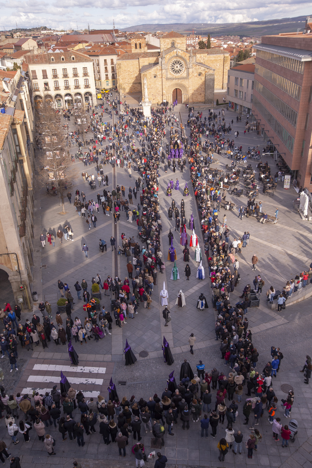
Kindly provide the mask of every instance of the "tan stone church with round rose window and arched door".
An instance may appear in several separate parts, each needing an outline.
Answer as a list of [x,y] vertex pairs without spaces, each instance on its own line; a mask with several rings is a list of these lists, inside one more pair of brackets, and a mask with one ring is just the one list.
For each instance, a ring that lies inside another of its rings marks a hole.
[[148,51],[145,37],[131,37],[131,53],[117,58],[121,94],[141,93],[144,78],[152,104],[168,101],[211,105],[215,90],[225,90],[230,56],[221,49],[186,51],[186,38],[174,31],[160,39],[160,52]]

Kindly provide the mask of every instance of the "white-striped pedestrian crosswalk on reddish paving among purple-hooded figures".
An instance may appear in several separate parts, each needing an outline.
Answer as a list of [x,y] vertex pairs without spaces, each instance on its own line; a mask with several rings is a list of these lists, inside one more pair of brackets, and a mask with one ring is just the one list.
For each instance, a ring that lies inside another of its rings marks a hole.
[[60,373],[63,372],[69,384],[76,390],[81,390],[87,398],[97,398],[98,395],[107,395],[109,380],[114,363],[101,363],[103,366],[91,366],[83,362],[79,366],[69,366],[67,363],[53,364],[55,361],[30,359],[27,370],[24,371],[20,386],[16,388],[21,395],[32,394],[34,391],[40,394],[51,392],[56,384],[59,389]]

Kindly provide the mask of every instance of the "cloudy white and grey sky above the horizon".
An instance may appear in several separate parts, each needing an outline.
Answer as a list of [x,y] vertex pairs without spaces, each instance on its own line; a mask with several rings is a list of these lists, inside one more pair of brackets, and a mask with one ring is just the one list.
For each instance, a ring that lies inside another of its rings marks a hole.
[[[222,9],[220,4],[222,3]],[[311,1],[305,0],[0,0],[0,28],[17,26],[52,29],[127,28],[144,23],[246,22],[285,18],[311,13]]]

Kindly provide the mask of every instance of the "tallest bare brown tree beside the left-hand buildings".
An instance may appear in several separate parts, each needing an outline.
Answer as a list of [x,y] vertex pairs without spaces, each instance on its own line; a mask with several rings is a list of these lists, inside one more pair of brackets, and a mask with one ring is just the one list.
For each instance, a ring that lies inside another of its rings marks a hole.
[[62,214],[65,214],[64,197],[66,190],[72,186],[74,176],[71,155],[69,153],[65,133],[60,124],[59,115],[53,109],[49,99],[44,98],[37,111],[36,120],[42,132],[43,152],[40,154],[40,182],[55,184],[58,191]]

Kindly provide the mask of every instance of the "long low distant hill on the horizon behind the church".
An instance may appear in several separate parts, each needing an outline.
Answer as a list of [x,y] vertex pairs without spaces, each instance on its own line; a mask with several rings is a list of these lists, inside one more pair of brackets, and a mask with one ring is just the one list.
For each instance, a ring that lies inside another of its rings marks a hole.
[[306,16],[296,16],[295,18],[282,18],[278,20],[253,21],[246,23],[166,23],[166,24],[138,24],[129,28],[119,29],[119,31],[171,31],[181,34],[190,34],[193,29],[197,34],[206,36],[266,36],[279,34],[281,32],[296,32],[297,29],[304,29]]

